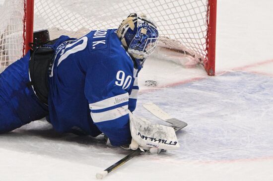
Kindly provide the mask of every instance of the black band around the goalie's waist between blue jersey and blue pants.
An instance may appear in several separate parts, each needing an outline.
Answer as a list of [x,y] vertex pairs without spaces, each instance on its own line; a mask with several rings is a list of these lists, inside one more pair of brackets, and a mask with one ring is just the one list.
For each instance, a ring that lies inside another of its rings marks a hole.
[[37,97],[46,105],[48,105],[49,92],[49,65],[54,58],[54,50],[50,45],[54,42],[55,40],[47,42],[43,46],[34,47],[29,60],[30,84]]

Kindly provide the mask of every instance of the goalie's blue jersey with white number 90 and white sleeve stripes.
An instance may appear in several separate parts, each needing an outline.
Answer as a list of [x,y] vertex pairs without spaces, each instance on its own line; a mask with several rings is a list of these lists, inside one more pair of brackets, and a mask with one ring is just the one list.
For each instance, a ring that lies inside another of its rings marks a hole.
[[138,91],[134,63],[115,29],[91,31],[80,39],[61,36],[53,45],[50,121],[59,132],[101,132],[114,146],[131,142],[129,111]]

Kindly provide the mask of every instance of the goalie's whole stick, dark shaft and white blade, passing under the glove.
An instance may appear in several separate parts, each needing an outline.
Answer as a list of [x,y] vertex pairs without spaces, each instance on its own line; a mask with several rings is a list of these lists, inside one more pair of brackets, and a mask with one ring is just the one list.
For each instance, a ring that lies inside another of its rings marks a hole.
[[[180,130],[183,127],[188,125],[184,121],[180,121],[180,120],[178,120],[176,118],[172,118],[170,115],[168,115],[166,112],[161,110],[158,106],[156,106],[153,103],[144,104],[143,107],[146,110],[148,110],[150,113],[152,113],[154,116],[156,116],[157,118],[159,118],[159,119],[161,119],[163,121],[171,123],[172,124],[171,127],[173,127],[175,131],[178,131],[178,130]],[[120,166],[125,164],[127,161],[129,161],[132,158],[134,158],[135,156],[139,155],[141,152],[142,151],[140,149],[132,151],[129,155],[127,155],[126,157],[124,157],[120,161],[118,161],[115,164],[111,165],[110,167],[108,167],[104,171],[102,171],[100,173],[97,173],[96,178],[97,179],[103,179],[107,174],[109,174],[110,172],[116,170],[117,168],[119,168]]]

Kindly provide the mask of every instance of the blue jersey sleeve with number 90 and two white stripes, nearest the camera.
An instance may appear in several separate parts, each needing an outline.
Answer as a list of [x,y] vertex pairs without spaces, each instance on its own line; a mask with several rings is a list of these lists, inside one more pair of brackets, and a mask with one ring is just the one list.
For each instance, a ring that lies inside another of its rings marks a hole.
[[87,71],[84,94],[93,122],[114,146],[131,142],[129,90],[133,79],[130,63],[104,61]]

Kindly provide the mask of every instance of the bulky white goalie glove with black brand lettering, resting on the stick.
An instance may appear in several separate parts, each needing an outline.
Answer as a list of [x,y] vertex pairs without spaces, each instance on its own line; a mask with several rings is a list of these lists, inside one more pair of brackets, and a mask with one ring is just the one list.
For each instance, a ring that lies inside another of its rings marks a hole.
[[161,149],[175,150],[180,147],[172,127],[153,124],[146,119],[137,118],[131,112],[129,116],[132,135],[129,149],[139,148],[142,151],[149,150],[151,153],[159,153]]

